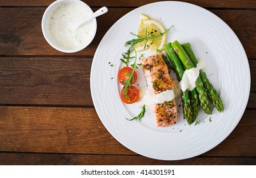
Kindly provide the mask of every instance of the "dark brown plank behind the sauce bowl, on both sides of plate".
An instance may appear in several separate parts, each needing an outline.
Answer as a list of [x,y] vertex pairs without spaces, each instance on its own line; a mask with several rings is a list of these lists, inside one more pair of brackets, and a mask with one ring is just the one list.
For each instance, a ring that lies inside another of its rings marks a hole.
[[[109,8],[109,13],[97,18],[99,28],[93,42],[86,49],[71,55],[93,56],[107,30],[119,18],[133,9]],[[0,55],[70,55],[54,50],[43,38],[41,17],[44,11],[45,8],[0,8],[0,21],[2,22],[0,26]],[[248,58],[256,58],[256,21],[254,20],[256,11],[211,11],[234,30],[241,40]],[[16,15],[18,12],[19,16]]]

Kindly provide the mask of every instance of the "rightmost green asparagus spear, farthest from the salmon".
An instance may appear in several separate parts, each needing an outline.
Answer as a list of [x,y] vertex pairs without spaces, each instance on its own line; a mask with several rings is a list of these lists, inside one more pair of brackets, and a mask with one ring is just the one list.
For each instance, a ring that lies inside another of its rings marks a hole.
[[[192,61],[193,65],[196,66],[198,61],[197,61],[197,58],[195,57],[195,53],[193,52],[190,43],[185,43],[182,46],[183,46],[183,49],[188,54],[188,56],[190,57],[190,60]],[[222,103],[222,99],[220,99],[220,96],[218,95],[217,90],[209,82],[209,80],[207,79],[206,73],[202,71],[202,69],[200,69],[199,74],[200,74],[200,78],[202,79],[202,83],[204,83],[204,87],[206,88],[206,92],[210,101],[213,103],[216,109],[221,113],[223,111],[223,103]]]

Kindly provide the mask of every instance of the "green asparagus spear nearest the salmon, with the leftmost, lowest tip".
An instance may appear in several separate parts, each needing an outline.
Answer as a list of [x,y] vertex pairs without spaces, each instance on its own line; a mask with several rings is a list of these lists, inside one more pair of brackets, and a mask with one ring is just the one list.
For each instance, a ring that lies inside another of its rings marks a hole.
[[[177,57],[176,53],[174,52],[171,43],[167,43],[165,45],[165,53],[167,54],[167,57],[170,60],[170,64],[172,64],[172,69],[176,73],[177,80],[181,81],[184,70],[183,70],[183,65],[181,64],[179,57]],[[190,102],[190,97],[188,95],[188,90],[186,91],[181,91],[182,94],[182,106],[183,106],[183,115],[184,118],[186,118],[186,121],[189,124],[193,123],[193,113],[191,109],[191,102]]]

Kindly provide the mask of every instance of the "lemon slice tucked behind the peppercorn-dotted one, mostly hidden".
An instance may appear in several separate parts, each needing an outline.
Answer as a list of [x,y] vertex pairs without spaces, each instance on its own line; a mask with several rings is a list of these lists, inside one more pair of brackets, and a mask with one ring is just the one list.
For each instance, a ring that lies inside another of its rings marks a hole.
[[[140,25],[139,25],[139,28],[138,28],[138,35],[141,36],[142,38],[146,37],[146,28],[144,27],[144,20],[148,20],[148,19],[149,19],[149,17],[147,17],[143,13],[140,14]],[[147,41],[146,46],[145,46],[145,44],[146,44],[145,40],[140,42],[140,43],[135,44],[134,45],[135,50],[137,52],[146,50],[147,48],[149,48],[149,41]]]

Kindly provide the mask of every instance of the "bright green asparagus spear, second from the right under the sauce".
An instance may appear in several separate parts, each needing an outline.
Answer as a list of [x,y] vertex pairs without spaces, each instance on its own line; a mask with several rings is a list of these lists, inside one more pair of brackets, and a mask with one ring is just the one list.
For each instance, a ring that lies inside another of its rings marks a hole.
[[[183,47],[181,46],[181,44],[179,44],[178,41],[174,41],[174,43],[172,43],[171,45],[174,48],[174,51],[179,56],[179,58],[181,59],[181,62],[186,67],[186,69],[192,69],[193,67],[195,67],[192,61],[190,60],[190,57],[188,57],[186,51],[184,51]],[[200,106],[202,107],[202,109],[204,109],[204,112],[206,114],[211,114],[211,109],[209,107],[209,99],[207,97],[204,84],[202,83],[200,77],[197,78],[197,80],[195,81],[195,86],[197,88],[197,93],[199,95]]]

